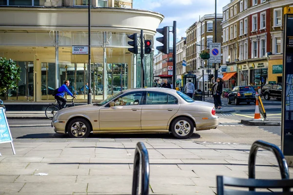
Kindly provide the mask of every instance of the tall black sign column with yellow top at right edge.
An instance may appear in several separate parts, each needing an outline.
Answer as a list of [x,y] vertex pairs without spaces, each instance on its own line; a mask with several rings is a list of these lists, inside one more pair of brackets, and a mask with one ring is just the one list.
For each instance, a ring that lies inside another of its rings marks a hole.
[[293,167],[293,7],[284,8],[284,19],[281,149]]

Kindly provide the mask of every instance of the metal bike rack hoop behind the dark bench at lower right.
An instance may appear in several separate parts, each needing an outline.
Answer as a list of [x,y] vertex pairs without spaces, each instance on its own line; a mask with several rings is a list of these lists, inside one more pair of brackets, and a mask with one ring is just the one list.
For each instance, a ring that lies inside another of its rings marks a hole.
[[[262,140],[257,140],[251,145],[251,150],[250,150],[249,159],[248,159],[249,178],[255,179],[255,158],[256,158],[256,153],[258,148],[263,148],[263,149],[271,151],[277,158],[282,179],[290,179],[288,165],[287,165],[285,156],[283,155],[280,148],[272,143],[268,143]],[[288,191],[288,192],[289,190],[290,189],[284,189],[284,191]],[[251,188],[250,191],[254,191],[254,188]]]

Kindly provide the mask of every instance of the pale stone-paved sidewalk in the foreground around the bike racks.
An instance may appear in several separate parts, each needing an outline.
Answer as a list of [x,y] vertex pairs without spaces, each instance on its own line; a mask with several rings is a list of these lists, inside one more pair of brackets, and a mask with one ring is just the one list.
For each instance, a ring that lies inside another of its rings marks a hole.
[[[149,154],[149,194],[214,195],[217,175],[248,178],[250,145],[151,138],[15,139],[16,155],[10,143],[0,144],[0,195],[131,194],[140,140]],[[260,149],[256,163],[256,178],[281,178],[271,152]]]

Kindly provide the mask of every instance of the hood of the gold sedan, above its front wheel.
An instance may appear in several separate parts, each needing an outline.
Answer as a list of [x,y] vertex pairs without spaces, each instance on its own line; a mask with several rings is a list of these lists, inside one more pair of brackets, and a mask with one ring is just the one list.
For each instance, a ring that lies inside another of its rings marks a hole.
[[64,108],[56,113],[54,119],[69,119],[73,115],[84,115],[86,112],[97,112],[99,111],[101,106],[94,106],[92,104],[73,106],[69,108]]

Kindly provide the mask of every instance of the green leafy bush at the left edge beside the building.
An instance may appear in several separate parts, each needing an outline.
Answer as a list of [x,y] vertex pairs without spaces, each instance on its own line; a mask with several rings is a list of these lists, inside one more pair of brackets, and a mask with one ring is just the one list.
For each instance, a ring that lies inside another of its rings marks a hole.
[[0,58],[0,94],[15,89],[21,80],[21,67],[12,59]]

